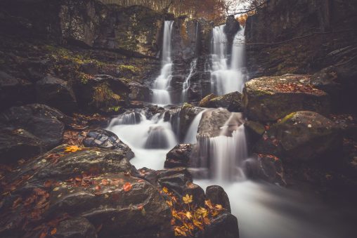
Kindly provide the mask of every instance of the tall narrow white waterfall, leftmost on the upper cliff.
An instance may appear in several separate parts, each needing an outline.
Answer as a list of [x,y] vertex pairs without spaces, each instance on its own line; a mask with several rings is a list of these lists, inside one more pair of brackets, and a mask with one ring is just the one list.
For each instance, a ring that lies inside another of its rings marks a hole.
[[174,21],[164,22],[164,39],[162,41],[162,67],[159,77],[157,77],[152,86],[152,103],[157,105],[168,105],[171,103],[169,93],[170,82],[172,78],[172,60],[171,60],[171,33]]

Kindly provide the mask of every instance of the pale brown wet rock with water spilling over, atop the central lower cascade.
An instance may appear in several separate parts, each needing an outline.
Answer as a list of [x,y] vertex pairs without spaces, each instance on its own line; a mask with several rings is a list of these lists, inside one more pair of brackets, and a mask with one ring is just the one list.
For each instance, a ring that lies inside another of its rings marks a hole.
[[231,117],[231,112],[226,109],[208,110],[202,114],[202,119],[198,125],[197,136],[213,138],[219,136],[221,127]]

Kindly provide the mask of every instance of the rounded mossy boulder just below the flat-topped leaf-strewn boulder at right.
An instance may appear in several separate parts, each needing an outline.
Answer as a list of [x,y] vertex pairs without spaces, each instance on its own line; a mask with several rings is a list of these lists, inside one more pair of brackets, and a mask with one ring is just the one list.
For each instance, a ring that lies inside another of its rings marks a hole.
[[[342,145],[339,127],[316,112],[288,114],[266,131],[256,145],[259,154],[273,154],[283,161],[311,161],[333,157]],[[335,158],[336,159],[336,158]]]

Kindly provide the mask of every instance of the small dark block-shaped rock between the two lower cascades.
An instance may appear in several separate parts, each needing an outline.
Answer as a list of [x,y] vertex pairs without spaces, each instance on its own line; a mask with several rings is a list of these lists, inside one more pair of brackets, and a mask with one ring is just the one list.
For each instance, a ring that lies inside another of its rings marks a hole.
[[167,153],[164,168],[187,167],[193,147],[192,144],[176,145]]

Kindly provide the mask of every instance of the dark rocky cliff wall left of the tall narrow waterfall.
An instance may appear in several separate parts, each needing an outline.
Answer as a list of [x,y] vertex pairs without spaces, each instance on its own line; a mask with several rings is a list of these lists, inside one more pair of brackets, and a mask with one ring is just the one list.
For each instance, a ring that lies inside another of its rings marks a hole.
[[94,0],[15,0],[1,5],[6,10],[0,15],[1,32],[16,29],[14,33],[22,37],[45,37],[61,44],[149,56],[160,48],[164,15],[149,8],[119,8]]

